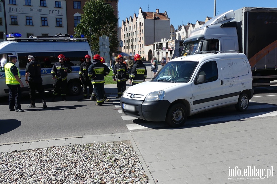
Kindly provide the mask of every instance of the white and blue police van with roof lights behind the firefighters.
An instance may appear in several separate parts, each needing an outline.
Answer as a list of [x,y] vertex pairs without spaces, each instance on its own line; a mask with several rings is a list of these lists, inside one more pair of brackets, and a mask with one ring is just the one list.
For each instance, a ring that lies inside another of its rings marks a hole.
[[[53,90],[53,79],[51,69],[55,62],[58,62],[58,55],[63,54],[66,61],[70,60],[72,72],[67,76],[67,87],[69,95],[78,95],[81,90],[79,79],[80,64],[86,55],[91,56],[91,50],[86,38],[74,38],[73,36],[33,36],[31,38],[20,37],[21,34],[15,33],[7,35],[8,41],[0,43],[0,56],[18,55],[15,64],[19,69],[21,81],[24,87],[22,93],[28,92],[25,84],[25,68],[29,62],[28,55],[32,54],[36,61],[42,63],[41,77],[45,91]],[[2,57],[1,57],[2,58]],[[6,57],[8,60],[8,57]],[[7,61],[8,62],[8,61]],[[73,66],[74,65],[74,66]],[[4,66],[0,68],[0,97],[9,95],[6,85]]]

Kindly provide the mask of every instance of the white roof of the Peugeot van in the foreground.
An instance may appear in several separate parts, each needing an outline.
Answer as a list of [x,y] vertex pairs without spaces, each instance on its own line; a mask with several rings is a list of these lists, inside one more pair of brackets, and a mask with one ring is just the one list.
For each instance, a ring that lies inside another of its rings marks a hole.
[[189,56],[181,56],[178,58],[174,58],[171,59],[169,62],[172,61],[198,61],[198,62],[203,62],[207,59],[213,59],[213,58],[246,58],[245,54],[243,53],[236,53],[236,52],[231,52],[231,53],[218,53],[218,54],[214,54],[214,53],[208,53],[208,54],[192,54]]

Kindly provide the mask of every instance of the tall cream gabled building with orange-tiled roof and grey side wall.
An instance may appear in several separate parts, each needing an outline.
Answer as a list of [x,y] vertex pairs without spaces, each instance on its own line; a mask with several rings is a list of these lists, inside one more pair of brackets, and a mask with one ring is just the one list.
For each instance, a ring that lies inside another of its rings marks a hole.
[[[122,52],[131,56],[139,53],[146,57],[144,46],[153,44],[162,38],[170,38],[170,18],[167,12],[144,12],[139,8],[139,14],[122,20],[121,39],[123,41]],[[148,58],[148,56],[147,56]]]

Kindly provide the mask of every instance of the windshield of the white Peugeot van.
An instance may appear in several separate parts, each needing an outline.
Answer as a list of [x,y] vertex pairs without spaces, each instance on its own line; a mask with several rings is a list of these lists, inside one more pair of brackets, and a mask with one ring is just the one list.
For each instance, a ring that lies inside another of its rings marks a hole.
[[188,82],[197,64],[197,61],[168,62],[151,81]]

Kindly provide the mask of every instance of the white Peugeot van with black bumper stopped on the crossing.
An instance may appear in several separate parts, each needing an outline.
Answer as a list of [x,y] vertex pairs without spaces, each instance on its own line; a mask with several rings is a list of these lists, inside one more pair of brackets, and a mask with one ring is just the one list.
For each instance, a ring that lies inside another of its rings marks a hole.
[[187,116],[226,105],[245,111],[253,92],[244,54],[194,54],[172,59],[151,81],[129,87],[120,105],[127,115],[179,127]]

